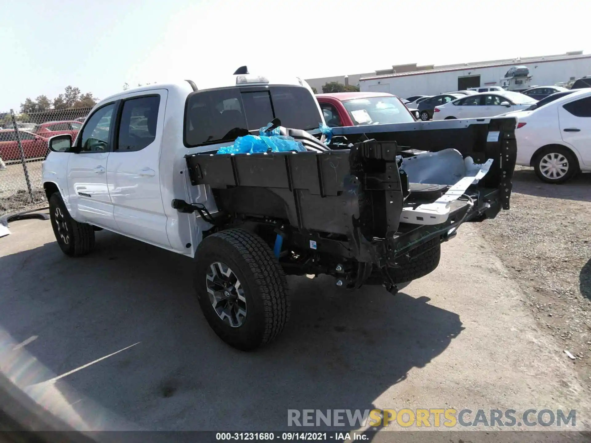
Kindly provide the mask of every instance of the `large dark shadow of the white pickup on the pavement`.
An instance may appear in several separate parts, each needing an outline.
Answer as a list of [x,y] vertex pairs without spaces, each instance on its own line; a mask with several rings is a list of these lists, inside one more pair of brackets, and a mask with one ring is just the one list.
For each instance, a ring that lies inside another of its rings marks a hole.
[[27,350],[56,376],[73,371],[60,383],[116,415],[148,429],[218,431],[287,429],[288,409],[372,409],[463,330],[427,297],[289,278],[290,324],[243,353],[210,330],[192,269],[189,258],[111,233],[97,233],[96,251],[79,259],[47,243],[0,258],[9,288],[0,325],[18,341],[36,335]]

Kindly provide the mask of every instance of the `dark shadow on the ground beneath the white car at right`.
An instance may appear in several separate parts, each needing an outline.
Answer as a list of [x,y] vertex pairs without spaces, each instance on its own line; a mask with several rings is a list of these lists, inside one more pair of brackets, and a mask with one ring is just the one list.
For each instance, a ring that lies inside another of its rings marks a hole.
[[513,192],[534,197],[591,201],[591,174],[579,174],[564,184],[550,184],[535,175],[534,168],[518,169],[513,173]]

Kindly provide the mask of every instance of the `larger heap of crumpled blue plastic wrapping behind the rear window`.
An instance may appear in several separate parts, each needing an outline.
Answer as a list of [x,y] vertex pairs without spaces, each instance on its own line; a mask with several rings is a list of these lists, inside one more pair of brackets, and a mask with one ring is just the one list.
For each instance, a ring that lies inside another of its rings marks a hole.
[[254,154],[255,152],[304,152],[306,148],[293,137],[279,135],[279,128],[268,131],[269,123],[259,129],[261,135],[245,135],[236,138],[233,145],[219,148],[216,154]]

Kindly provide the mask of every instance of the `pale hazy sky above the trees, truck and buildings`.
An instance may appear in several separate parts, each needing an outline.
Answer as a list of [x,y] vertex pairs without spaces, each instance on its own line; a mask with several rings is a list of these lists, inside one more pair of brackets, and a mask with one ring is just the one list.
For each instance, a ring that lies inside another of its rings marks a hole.
[[105,97],[243,64],[312,78],[588,53],[590,13],[528,0],[0,0],[0,112],[69,84]]

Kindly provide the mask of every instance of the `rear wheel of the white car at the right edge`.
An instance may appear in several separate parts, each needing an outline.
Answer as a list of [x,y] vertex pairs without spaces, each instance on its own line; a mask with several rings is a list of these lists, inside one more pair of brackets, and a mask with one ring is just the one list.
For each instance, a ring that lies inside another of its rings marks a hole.
[[545,183],[564,183],[579,172],[579,161],[564,146],[547,146],[534,158],[535,174]]

